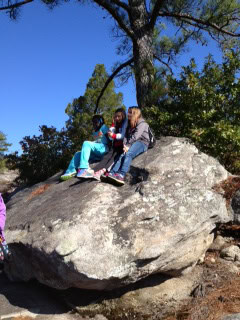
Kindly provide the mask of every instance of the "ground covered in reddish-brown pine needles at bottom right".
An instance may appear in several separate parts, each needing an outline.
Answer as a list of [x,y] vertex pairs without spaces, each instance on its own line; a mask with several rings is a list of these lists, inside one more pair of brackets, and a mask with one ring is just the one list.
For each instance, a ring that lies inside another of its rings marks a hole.
[[[222,225],[218,234],[240,245],[240,226]],[[203,281],[192,298],[162,320],[220,320],[240,312],[240,273],[231,272],[217,251],[207,252],[202,266]]]

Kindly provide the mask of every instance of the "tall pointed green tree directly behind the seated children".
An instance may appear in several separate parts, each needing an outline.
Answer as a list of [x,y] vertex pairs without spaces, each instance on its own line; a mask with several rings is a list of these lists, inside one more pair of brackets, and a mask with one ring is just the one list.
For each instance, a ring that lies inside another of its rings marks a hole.
[[[97,64],[88,81],[84,96],[74,99],[72,103],[67,105],[65,112],[69,119],[66,122],[66,127],[74,151],[81,149],[83,141],[91,140],[92,116],[97,98],[107,79],[108,74],[104,65]],[[114,111],[119,107],[123,107],[123,95],[115,92],[115,85],[112,81],[100,101],[98,113],[102,114],[105,123],[110,125]]]

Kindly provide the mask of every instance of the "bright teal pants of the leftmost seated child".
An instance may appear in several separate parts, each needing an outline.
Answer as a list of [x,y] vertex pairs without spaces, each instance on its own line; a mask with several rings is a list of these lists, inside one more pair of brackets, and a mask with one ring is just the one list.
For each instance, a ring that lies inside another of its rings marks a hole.
[[100,161],[108,152],[108,146],[103,143],[84,141],[82,150],[75,153],[66,173],[75,172],[76,169],[88,169],[89,161]]

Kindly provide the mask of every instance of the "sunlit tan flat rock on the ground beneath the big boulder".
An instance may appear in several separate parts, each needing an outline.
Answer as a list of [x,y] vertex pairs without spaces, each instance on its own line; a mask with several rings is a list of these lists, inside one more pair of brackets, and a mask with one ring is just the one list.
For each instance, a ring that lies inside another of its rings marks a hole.
[[165,319],[167,314],[179,310],[182,302],[189,299],[202,281],[202,273],[202,267],[196,266],[192,272],[175,278],[154,274],[127,287],[101,292],[89,304],[80,301],[80,289],[69,289],[67,300],[79,314],[98,313],[109,320]]

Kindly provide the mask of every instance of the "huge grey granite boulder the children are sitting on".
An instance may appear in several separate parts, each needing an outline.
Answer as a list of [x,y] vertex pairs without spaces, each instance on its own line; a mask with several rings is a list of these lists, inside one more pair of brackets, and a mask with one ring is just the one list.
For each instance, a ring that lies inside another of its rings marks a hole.
[[191,270],[232,220],[213,186],[228,172],[186,139],[162,138],[136,158],[123,187],[59,174],[12,197],[6,237],[12,279],[111,290]]

